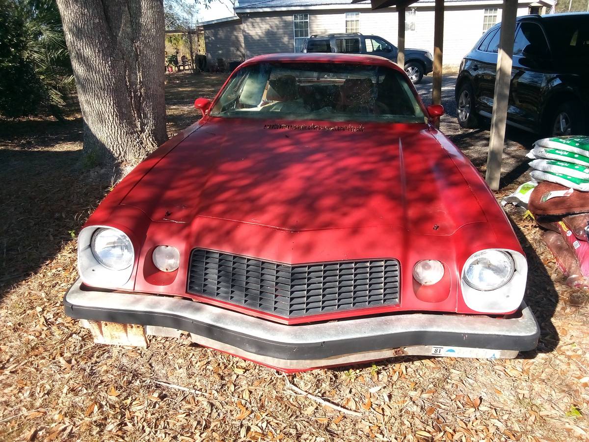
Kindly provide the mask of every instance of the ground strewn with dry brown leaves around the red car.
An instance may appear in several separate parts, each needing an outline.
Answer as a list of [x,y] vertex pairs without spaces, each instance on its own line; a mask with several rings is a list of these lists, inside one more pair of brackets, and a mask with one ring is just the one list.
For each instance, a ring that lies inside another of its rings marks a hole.
[[[212,97],[224,78],[168,76],[170,134],[197,118],[194,98]],[[93,344],[61,300],[77,278],[75,235],[112,183],[78,166],[81,118],[69,118],[0,122],[0,440],[589,438],[586,293],[562,284],[538,227],[509,206],[530,265],[537,350],[508,361],[401,357],[289,377],[359,415],[296,394],[276,371],[187,341]],[[481,170],[488,132],[461,132],[452,115],[442,130]],[[499,198],[526,179],[530,137],[508,138]]]

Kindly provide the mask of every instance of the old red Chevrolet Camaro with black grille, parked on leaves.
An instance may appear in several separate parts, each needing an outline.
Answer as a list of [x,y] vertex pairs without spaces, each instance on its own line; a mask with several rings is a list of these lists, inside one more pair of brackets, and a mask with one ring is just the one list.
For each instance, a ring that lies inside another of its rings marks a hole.
[[507,217],[391,61],[264,55],[195,105],[80,232],[65,311],[96,342],[287,372],[535,348]]

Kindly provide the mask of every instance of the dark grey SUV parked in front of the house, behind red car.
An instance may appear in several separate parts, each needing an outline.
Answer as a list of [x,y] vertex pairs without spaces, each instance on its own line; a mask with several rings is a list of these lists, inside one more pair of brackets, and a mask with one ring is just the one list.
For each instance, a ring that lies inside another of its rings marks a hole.
[[[340,52],[342,54],[369,54],[397,61],[397,48],[376,35],[330,34],[311,35],[305,41],[303,52]],[[432,54],[422,49],[405,49],[405,72],[413,83],[432,71]]]

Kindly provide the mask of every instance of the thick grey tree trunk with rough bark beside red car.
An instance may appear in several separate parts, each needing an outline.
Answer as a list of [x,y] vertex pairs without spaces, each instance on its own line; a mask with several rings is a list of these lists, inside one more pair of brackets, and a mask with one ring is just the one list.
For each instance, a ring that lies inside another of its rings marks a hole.
[[162,0],[57,0],[91,163],[136,161],[166,141]]

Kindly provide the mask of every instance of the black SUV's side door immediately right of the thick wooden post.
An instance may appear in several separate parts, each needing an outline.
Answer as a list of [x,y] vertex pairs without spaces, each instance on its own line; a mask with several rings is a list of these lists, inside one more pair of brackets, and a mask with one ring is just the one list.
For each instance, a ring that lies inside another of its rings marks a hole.
[[533,128],[540,117],[542,90],[550,69],[550,48],[540,24],[523,21],[515,34],[508,120]]

